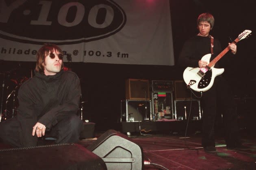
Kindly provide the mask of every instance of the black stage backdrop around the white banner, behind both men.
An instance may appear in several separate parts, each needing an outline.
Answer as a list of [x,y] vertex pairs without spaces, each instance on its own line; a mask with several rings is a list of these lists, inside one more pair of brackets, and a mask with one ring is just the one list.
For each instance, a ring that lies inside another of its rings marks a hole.
[[[145,0],[145,2],[152,4],[159,1]],[[139,3],[140,1],[134,2]],[[254,50],[256,49],[256,43],[254,32],[256,31],[256,21],[254,17],[256,16],[256,6],[254,1],[170,0],[169,4],[175,61],[184,41],[197,34],[196,18],[200,13],[210,12],[215,16],[215,26],[211,34],[221,41],[223,48],[228,45],[230,39],[234,40],[243,30],[252,30],[250,38],[241,40],[237,44],[238,52],[232,62],[224,67],[223,75],[232,85],[231,87],[236,97],[239,98],[239,102],[244,103],[244,98],[255,98],[256,75],[254,63],[256,62],[256,56]],[[73,58],[74,55],[72,55]],[[114,123],[120,120],[120,105],[121,100],[125,99],[126,79],[182,80],[184,70],[184,68],[176,65],[103,64],[74,61],[65,62],[65,66],[72,68],[72,71],[80,77],[82,101],[84,101],[85,109],[84,118],[95,122],[96,129],[103,130],[111,129]],[[6,77],[6,83],[9,82],[9,92],[7,94],[13,90],[14,85],[11,79],[20,80],[22,77],[30,77],[31,70],[33,72],[34,68],[35,62],[1,61],[0,71],[9,71],[9,75]],[[2,81],[2,77],[3,74],[0,74],[0,81]],[[2,82],[0,83],[2,84]],[[251,108],[249,111],[247,109],[249,113],[255,110],[253,107],[249,108]],[[244,110],[241,108],[241,104],[239,110],[241,112]],[[250,117],[250,114],[247,114],[247,119],[248,117]],[[253,117],[253,119],[255,118]]]

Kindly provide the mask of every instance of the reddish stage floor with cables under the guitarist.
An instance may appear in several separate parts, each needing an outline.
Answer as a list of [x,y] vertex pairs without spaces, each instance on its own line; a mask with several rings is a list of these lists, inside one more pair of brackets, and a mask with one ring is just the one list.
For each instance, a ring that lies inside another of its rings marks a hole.
[[[78,144],[87,148],[103,133],[95,132],[95,138],[79,140]],[[201,147],[201,133],[190,133],[187,137],[180,133],[156,133],[133,134],[129,139],[142,147],[144,160],[150,161],[150,165],[144,165],[145,170],[256,169],[256,136],[249,135],[245,130],[241,131],[243,145],[248,147],[244,150],[227,150],[223,137],[216,136],[217,152],[206,153]],[[4,148],[6,145],[0,143],[0,149]],[[28,161],[28,164],[33,162]]]

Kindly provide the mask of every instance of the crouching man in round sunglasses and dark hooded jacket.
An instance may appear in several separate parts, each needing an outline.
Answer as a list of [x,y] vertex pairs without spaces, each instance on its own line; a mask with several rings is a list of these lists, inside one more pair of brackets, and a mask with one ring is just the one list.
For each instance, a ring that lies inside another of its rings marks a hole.
[[63,71],[61,49],[46,44],[37,52],[35,76],[18,92],[17,117],[0,123],[0,138],[15,147],[36,146],[48,135],[56,143],[78,142],[82,120],[76,115],[80,81],[74,72]]

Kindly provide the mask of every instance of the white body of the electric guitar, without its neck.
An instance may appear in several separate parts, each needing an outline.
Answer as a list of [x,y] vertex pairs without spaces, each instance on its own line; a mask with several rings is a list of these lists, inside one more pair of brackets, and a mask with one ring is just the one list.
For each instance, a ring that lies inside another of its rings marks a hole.
[[[209,63],[210,57],[211,54],[206,54],[202,57],[201,60]],[[195,91],[207,91],[213,86],[215,77],[224,72],[224,68],[211,67],[211,69],[205,73],[204,77],[201,77],[197,74],[199,71],[199,67],[187,67],[183,72],[183,79],[191,89]]]

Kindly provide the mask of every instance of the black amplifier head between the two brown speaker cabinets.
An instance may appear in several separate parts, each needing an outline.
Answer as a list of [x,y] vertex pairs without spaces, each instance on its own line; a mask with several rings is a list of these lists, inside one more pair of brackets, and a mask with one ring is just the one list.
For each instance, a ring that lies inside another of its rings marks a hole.
[[174,82],[152,80],[152,91],[174,91]]

